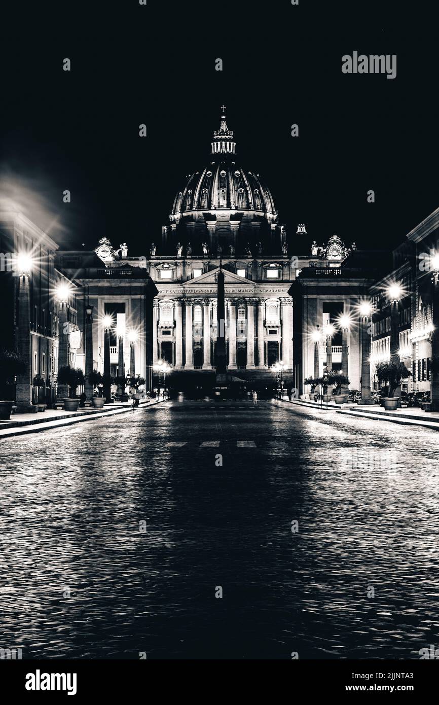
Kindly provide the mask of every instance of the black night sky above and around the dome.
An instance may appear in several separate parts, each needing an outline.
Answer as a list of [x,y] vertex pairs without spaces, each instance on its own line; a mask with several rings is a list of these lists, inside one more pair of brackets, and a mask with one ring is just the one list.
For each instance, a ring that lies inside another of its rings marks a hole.
[[[1,47],[1,194],[63,247],[106,235],[146,254],[185,175],[209,160],[223,102],[237,161],[261,173],[293,240],[307,224],[297,254],[334,232],[392,247],[439,206],[427,3],[95,5],[20,6]],[[342,74],[354,50],[397,54],[397,78]]]

